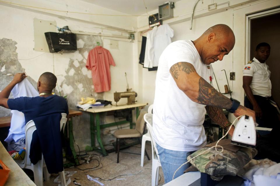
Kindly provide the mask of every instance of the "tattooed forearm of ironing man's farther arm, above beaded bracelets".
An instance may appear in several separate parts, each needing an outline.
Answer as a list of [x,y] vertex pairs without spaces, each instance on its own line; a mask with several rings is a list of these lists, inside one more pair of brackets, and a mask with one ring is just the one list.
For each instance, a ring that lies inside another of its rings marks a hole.
[[225,117],[223,109],[212,106],[206,106],[205,109],[211,120],[220,125],[222,128],[227,127],[226,125],[230,123]]

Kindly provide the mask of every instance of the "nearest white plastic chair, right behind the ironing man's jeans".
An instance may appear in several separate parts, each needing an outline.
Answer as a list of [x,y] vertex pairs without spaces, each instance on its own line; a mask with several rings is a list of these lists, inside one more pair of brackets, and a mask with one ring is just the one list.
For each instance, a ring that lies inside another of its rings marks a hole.
[[144,120],[147,123],[148,131],[150,132],[152,139],[152,186],[158,185],[158,177],[159,177],[159,167],[160,157],[158,155],[157,148],[155,146],[155,140],[153,139],[153,114],[145,114]]

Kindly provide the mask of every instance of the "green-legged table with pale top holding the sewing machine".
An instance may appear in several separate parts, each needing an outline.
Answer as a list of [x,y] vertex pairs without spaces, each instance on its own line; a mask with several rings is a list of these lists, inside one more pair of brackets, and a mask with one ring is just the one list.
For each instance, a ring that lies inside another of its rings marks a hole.
[[[104,107],[104,108],[99,108],[99,109],[87,109],[86,112],[90,113],[90,137],[91,137],[91,146],[94,150],[98,150],[98,148],[95,146],[95,136],[97,137],[97,141],[99,143],[99,146],[101,148],[101,153],[103,156],[108,155],[103,144],[101,141],[100,137],[100,129],[106,128],[106,127],[111,127],[115,125],[120,125],[124,123],[130,123],[130,128],[132,128],[132,118],[130,121],[117,121],[113,123],[106,123],[103,125],[100,125],[100,119],[99,119],[99,113],[102,112],[107,112],[107,111],[115,111],[115,110],[123,110],[123,109],[130,109],[130,108],[136,108],[136,119],[139,116],[139,107],[145,107],[148,103],[136,103],[136,104],[129,104],[129,105],[121,105],[121,106],[109,106],[109,107]],[[80,109],[84,111],[83,109]]]

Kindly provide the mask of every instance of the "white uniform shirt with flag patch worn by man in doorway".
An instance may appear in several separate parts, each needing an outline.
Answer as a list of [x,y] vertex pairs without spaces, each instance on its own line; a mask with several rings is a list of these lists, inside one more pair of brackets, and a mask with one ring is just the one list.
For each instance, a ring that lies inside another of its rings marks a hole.
[[251,64],[247,64],[243,68],[243,76],[252,76],[250,88],[253,95],[260,95],[262,97],[271,96],[271,81],[270,70],[266,63],[260,63],[257,59],[253,58]]

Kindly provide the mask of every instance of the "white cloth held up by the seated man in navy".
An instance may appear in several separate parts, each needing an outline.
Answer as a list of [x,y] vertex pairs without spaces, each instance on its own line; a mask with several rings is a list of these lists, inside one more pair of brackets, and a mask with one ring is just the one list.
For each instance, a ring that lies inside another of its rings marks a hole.
[[[31,83],[27,80],[27,78],[23,79],[22,82],[15,85],[12,90],[12,94],[14,98],[19,97],[36,97],[39,93],[36,89],[31,85]],[[9,129],[8,137],[4,140],[7,143],[10,143],[12,140],[15,142],[22,137],[25,137],[24,127],[25,127],[25,119],[24,114],[17,110],[11,110],[12,119],[11,126]]]

